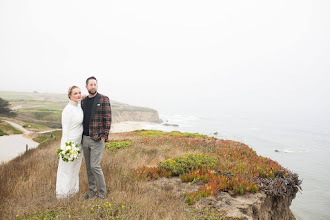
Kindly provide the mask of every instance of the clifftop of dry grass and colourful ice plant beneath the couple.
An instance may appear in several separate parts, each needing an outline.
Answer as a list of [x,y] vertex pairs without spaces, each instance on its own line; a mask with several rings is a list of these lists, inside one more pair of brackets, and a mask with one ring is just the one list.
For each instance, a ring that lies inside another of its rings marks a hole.
[[[40,141],[49,137],[46,134]],[[83,199],[88,190],[83,160],[79,193],[57,200],[55,152],[60,133],[54,137],[0,165],[0,218],[231,219],[225,212],[197,202],[220,191],[255,193],[263,190],[261,179],[283,179],[289,184],[294,176],[239,142],[140,130],[111,134],[101,163],[108,187],[106,199]],[[169,181],[178,185],[166,184]]]

